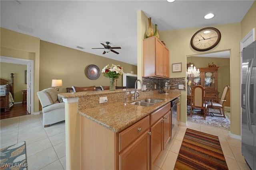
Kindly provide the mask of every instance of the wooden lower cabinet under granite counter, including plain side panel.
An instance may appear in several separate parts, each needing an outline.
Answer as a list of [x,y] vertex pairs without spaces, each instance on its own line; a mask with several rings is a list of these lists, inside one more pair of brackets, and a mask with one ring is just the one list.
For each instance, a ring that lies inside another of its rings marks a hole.
[[171,137],[170,103],[119,133],[80,116],[81,169],[152,170]]

